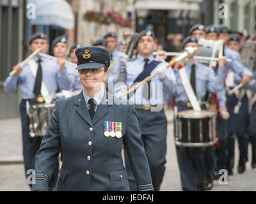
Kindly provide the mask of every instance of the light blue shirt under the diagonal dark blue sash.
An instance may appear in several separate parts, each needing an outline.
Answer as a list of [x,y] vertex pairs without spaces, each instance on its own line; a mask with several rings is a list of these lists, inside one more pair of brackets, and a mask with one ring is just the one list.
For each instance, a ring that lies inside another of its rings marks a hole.
[[[115,95],[121,96],[124,94],[129,88],[134,85],[134,80],[140,75],[140,73],[144,69],[145,61],[144,57],[138,55],[137,59],[133,59],[131,61],[127,61],[126,63],[126,71],[127,71],[127,82],[126,86],[118,86],[115,87]],[[153,56],[148,58],[148,64],[152,61],[159,61],[155,59]],[[161,66],[167,66],[167,62],[161,61],[160,64],[153,69],[150,75],[154,75]],[[151,79],[151,92],[152,97],[149,101],[143,98],[143,85],[141,85],[136,92],[134,92],[133,96],[129,98],[129,103],[135,105],[163,105],[164,102],[168,99],[170,93],[174,92],[175,90],[175,75],[173,73],[172,68],[167,69],[166,78],[161,81],[159,77],[156,76]]]

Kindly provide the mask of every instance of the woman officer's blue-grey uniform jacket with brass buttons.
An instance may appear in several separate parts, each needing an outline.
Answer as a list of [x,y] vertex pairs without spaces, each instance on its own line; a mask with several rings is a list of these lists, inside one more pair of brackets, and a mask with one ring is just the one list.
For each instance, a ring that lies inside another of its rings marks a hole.
[[[104,136],[105,121],[122,122],[122,137]],[[113,95],[105,92],[91,120],[83,91],[58,100],[36,153],[36,182],[32,190],[48,190],[61,149],[63,164],[56,191],[129,191],[122,145],[138,191],[153,190],[134,106],[115,105]]]

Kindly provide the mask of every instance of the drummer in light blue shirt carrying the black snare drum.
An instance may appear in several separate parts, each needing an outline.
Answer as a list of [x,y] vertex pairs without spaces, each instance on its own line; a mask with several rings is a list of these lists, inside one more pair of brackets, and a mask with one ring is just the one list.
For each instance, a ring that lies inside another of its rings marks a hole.
[[[182,42],[182,48],[198,47],[198,40],[193,36],[188,36]],[[199,52],[199,51],[198,51]],[[207,66],[189,59],[186,63],[188,77],[191,78],[191,84],[198,100],[205,98],[207,91],[216,92],[223,89],[225,57],[219,59],[220,68],[217,75]],[[175,87],[175,105],[178,111],[191,110],[188,96],[181,83],[179,69],[177,66],[173,69],[177,79]],[[211,151],[209,151],[211,154]],[[205,165],[205,148],[202,147],[177,147],[177,156],[180,168],[180,177],[183,191],[205,191],[205,180],[207,175],[207,166]]]

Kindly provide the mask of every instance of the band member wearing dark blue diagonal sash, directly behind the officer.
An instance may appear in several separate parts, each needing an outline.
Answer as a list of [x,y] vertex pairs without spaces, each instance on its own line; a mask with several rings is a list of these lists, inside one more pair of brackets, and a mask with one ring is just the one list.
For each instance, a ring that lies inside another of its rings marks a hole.
[[[124,81],[127,86],[124,85],[124,89],[120,88],[122,86],[116,88],[115,93],[118,96],[118,91],[124,92],[133,83],[140,82],[159,71],[159,75],[152,78],[150,83],[141,85],[134,93],[129,94],[129,103],[135,104],[138,113],[154,190],[159,191],[166,163],[167,120],[163,104],[174,90],[175,77],[172,69],[166,69],[166,62],[154,58],[154,39],[152,31],[144,30],[138,34],[134,43],[138,58],[127,61],[127,76]],[[129,163],[126,164],[129,165]],[[129,184],[132,191],[136,191],[135,183],[132,172],[129,171]]]

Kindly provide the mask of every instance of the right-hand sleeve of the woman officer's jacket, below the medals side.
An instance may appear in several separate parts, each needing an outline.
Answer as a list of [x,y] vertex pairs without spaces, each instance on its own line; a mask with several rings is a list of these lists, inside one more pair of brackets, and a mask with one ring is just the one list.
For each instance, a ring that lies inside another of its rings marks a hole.
[[131,164],[138,191],[154,191],[148,160],[145,155],[143,142],[141,141],[140,128],[133,105],[129,105],[126,126],[127,133],[124,136],[124,147]]

